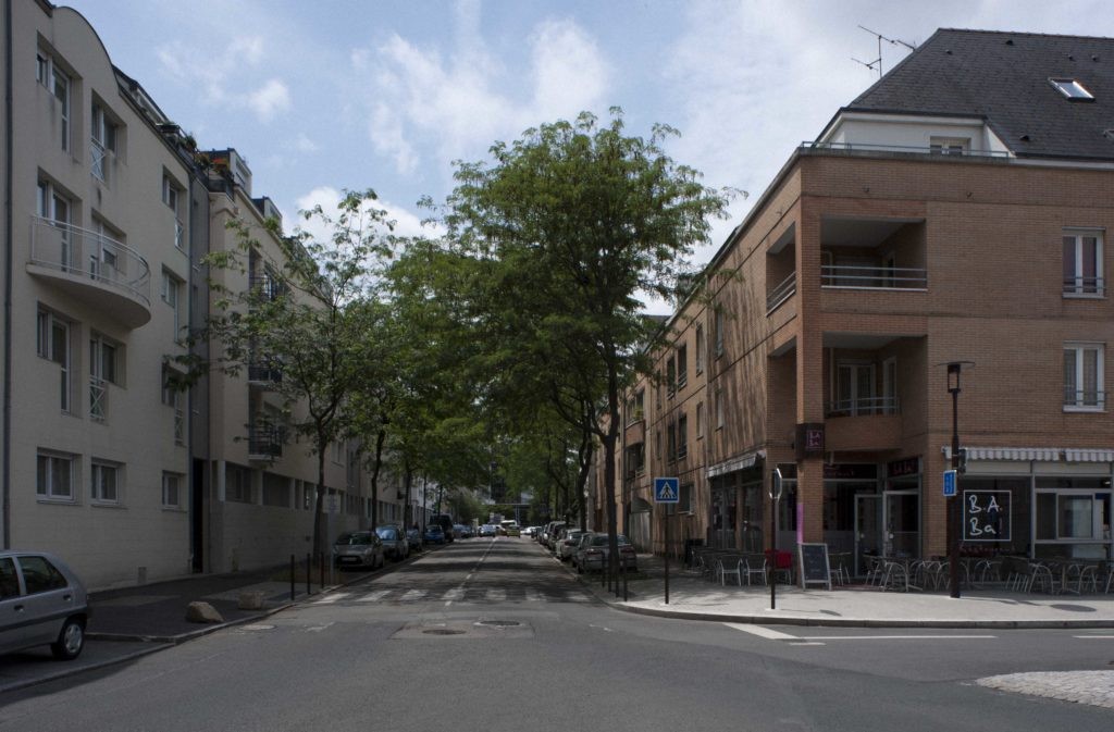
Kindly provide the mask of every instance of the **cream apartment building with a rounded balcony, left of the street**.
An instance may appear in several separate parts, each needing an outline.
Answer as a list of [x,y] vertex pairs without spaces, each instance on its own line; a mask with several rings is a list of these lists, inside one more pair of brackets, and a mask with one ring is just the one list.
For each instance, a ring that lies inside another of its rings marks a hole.
[[[198,165],[78,12],[8,8],[2,546],[55,552],[94,588],[303,555],[316,459],[266,420],[273,374],[167,388],[211,305],[202,258],[233,245],[229,217],[262,232],[276,209],[235,150]],[[281,265],[258,238],[235,286]],[[370,519],[355,447],[330,455],[331,531]],[[381,482],[381,520],[401,520],[407,497]]]

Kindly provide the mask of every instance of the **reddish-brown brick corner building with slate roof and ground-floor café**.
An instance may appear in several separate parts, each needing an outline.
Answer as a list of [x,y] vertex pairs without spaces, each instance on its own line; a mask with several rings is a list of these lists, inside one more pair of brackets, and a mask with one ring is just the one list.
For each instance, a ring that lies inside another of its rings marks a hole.
[[[635,541],[1108,557],[1114,40],[940,30],[801,146],[625,410]],[[707,304],[710,301],[711,304]],[[596,471],[602,475],[602,470]],[[651,480],[676,476],[668,518]]]

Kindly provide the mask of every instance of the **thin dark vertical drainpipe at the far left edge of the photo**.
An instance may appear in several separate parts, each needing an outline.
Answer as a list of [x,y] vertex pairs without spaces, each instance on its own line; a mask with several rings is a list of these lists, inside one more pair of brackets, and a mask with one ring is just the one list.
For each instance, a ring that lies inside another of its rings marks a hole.
[[11,289],[12,289],[12,262],[14,252],[12,246],[12,178],[14,167],[12,156],[12,31],[11,31],[11,0],[3,3],[3,28],[4,28],[4,266],[3,266],[3,548],[11,548]]

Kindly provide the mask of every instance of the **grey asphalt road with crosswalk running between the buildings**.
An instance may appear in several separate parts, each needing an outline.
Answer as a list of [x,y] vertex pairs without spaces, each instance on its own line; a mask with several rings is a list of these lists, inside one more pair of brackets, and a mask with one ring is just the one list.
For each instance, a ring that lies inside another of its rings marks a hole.
[[1114,634],[731,626],[595,601],[530,539],[458,541],[254,626],[0,696],[0,730],[1066,730],[983,676],[1111,670]]

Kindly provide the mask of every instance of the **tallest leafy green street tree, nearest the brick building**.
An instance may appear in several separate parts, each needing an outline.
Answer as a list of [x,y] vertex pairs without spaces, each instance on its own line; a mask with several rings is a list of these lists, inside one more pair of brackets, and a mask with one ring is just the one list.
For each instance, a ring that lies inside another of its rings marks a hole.
[[588,420],[603,449],[612,557],[619,396],[663,335],[642,299],[676,296],[688,255],[729,199],[666,155],[674,135],[655,125],[648,138],[628,136],[617,108],[607,124],[584,113],[541,125],[496,143],[488,160],[458,163],[443,216],[448,240],[490,271],[485,302],[496,321],[518,321],[508,330],[534,343],[527,361],[536,368],[544,354],[577,398],[599,388]]

